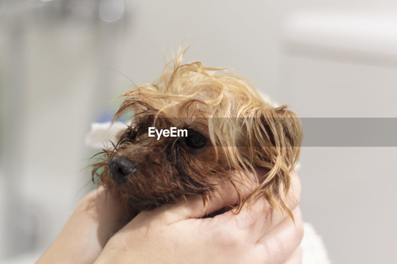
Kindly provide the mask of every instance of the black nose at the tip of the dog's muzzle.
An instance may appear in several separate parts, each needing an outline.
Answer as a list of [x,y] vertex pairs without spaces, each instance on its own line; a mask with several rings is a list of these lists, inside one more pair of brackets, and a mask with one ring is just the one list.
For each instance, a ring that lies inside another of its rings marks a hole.
[[126,157],[112,157],[109,160],[110,178],[117,183],[123,183],[127,180],[127,176],[134,172],[135,163]]

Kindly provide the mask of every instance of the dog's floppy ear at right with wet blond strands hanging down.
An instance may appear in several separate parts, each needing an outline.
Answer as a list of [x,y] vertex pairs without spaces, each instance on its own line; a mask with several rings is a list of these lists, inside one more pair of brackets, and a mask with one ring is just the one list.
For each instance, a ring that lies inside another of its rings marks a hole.
[[259,181],[262,184],[256,193],[262,193],[273,209],[285,211],[293,218],[286,196],[303,139],[301,122],[285,105],[258,109],[255,116],[254,125],[248,126],[247,140],[251,147],[247,149],[251,164],[268,171],[266,175],[258,175],[264,181]]

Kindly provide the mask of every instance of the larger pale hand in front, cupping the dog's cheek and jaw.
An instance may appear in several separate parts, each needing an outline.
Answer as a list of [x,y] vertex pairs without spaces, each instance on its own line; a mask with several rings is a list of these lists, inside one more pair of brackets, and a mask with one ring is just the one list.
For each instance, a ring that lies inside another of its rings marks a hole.
[[[192,197],[139,213],[110,238],[95,263],[301,263],[301,186],[295,172],[291,177],[287,202],[295,225],[285,212],[272,214],[263,197],[238,214],[200,218],[237,201],[233,187],[224,186],[225,200],[214,195],[207,209],[201,197]],[[248,194],[252,187],[239,188]]]

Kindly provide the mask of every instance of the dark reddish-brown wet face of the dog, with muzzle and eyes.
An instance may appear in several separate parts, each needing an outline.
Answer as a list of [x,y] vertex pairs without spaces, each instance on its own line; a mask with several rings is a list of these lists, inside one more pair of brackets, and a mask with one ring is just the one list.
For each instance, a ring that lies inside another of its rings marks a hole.
[[[185,133],[149,137],[150,127],[158,131],[175,127]],[[214,163],[216,156],[200,121],[140,117],[106,151],[100,181],[128,201],[132,210],[153,209],[185,195],[212,191],[214,179],[225,174],[222,163]]]

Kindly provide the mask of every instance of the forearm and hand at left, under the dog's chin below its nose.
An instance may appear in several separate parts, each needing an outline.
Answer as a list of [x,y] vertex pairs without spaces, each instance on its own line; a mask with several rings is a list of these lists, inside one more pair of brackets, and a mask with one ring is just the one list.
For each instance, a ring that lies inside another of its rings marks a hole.
[[131,220],[104,187],[86,195],[37,264],[93,263],[112,234]]

